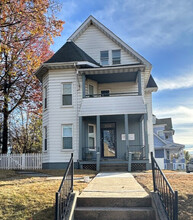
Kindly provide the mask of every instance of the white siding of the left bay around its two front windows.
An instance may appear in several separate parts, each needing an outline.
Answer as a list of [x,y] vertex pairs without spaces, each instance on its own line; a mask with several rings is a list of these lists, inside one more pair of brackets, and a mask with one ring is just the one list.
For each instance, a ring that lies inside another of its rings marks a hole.
[[[62,106],[62,83],[72,83],[72,107]],[[80,85],[79,85],[80,84]],[[78,159],[78,108],[81,97],[81,82],[74,70],[52,70],[49,72],[49,162],[68,162],[74,152]],[[62,149],[62,125],[73,126],[73,150]]]

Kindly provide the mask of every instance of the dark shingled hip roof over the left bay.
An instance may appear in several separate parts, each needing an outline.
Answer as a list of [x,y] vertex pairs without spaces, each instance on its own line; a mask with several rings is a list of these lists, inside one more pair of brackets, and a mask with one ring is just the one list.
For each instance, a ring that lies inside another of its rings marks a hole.
[[90,63],[100,66],[93,58],[86,54],[74,42],[66,42],[49,60],[45,63],[60,63],[60,62],[74,62],[74,61],[88,61]]

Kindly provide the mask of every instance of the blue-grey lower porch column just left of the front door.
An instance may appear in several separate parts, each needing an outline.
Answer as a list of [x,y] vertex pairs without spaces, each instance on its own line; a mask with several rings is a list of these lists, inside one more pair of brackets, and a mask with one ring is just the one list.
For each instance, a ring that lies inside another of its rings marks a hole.
[[101,152],[101,126],[100,126],[100,115],[97,115],[97,130],[96,130],[96,152],[97,152],[97,164],[96,169],[97,171],[100,170],[100,152]]

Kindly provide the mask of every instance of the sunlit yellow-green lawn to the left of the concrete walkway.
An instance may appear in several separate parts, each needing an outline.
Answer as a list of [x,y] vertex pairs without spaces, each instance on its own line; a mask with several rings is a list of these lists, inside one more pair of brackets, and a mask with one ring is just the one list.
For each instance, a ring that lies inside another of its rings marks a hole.
[[[39,172],[39,171],[38,171]],[[41,171],[49,175],[63,176],[64,170]],[[53,173],[52,173],[53,172]],[[78,170],[75,177],[95,176],[94,171]],[[54,219],[55,193],[61,180],[46,177],[26,177],[15,171],[0,171],[0,219],[48,220]],[[82,191],[83,181],[74,181],[74,190]]]

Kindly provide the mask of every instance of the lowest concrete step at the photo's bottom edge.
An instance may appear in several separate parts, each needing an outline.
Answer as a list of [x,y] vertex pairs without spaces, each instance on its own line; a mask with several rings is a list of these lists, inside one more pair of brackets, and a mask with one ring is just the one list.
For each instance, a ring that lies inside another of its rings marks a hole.
[[155,220],[151,207],[78,207],[74,220]]

